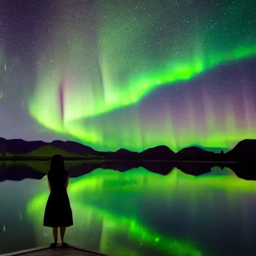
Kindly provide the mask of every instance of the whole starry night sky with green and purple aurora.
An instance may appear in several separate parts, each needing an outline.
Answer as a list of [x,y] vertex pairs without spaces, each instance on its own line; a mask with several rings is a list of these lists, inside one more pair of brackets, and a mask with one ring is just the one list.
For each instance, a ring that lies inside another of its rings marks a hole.
[[254,0],[1,0],[0,136],[98,150],[256,138]]

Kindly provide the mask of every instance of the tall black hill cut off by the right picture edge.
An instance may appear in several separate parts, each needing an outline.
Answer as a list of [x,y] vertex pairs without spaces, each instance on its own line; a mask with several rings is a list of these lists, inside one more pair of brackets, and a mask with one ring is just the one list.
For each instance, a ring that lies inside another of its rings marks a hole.
[[256,161],[256,139],[241,140],[224,155],[229,161]]

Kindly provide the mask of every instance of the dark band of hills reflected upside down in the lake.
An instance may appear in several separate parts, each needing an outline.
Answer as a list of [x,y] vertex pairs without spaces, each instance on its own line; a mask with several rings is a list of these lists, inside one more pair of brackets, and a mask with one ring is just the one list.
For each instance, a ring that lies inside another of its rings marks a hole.
[[[251,164],[232,162],[217,164],[221,169],[232,169],[235,175],[240,178],[256,180],[256,172]],[[196,161],[66,161],[65,166],[70,177],[79,177],[97,168],[124,172],[140,167],[161,175],[167,175],[174,168],[177,168],[183,173],[197,176],[212,172],[217,167],[214,162]],[[48,169],[49,161],[0,161],[0,181],[22,180],[24,178],[41,179]]]

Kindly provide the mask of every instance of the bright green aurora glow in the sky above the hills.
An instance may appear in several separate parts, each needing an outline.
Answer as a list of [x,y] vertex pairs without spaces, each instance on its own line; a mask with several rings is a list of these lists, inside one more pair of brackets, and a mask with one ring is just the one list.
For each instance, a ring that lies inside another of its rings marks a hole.
[[[239,22],[245,12],[253,10],[250,8],[250,5],[253,7],[253,1],[247,4],[246,10],[234,11],[239,3],[236,0],[231,6],[226,4],[220,9],[215,6],[219,16],[218,25],[212,25],[211,29],[203,30],[204,26],[211,24],[203,11],[199,22],[198,19],[191,20],[194,25],[185,38],[170,36],[169,43],[163,45],[162,51],[149,51],[140,46],[141,37],[144,41],[151,40],[151,25],[143,15],[151,13],[150,8],[153,6],[154,13],[157,12],[159,16],[164,11],[162,6],[152,1],[145,4],[144,10],[140,9],[140,12],[131,8],[131,11],[123,13],[123,5],[120,4],[120,11],[113,14],[107,7],[113,2],[102,1],[97,31],[98,45],[91,43],[83,27],[77,27],[75,21],[71,21],[69,27],[60,25],[56,28],[53,44],[50,42],[46,45],[45,52],[38,57],[36,88],[28,102],[31,116],[44,127],[99,150],[119,147],[143,150],[166,144],[177,151],[195,143],[230,147],[240,139],[255,138],[255,123],[247,127],[235,125],[235,113],[229,105],[223,114],[226,123],[231,121],[234,126],[230,124],[224,130],[219,129],[207,95],[206,136],[201,136],[201,132],[196,130],[193,118],[188,125],[180,127],[178,135],[174,133],[167,109],[163,120],[157,123],[152,120],[152,125],[149,123],[143,128],[136,109],[130,115],[125,115],[124,112],[127,127],[123,127],[121,121],[116,121],[112,116],[114,110],[135,107],[143,97],[161,86],[189,81],[221,64],[254,56],[255,33],[248,27],[246,34],[249,39],[245,35],[241,36],[245,32],[244,26]],[[177,9],[180,14],[183,13],[183,8],[191,8],[188,2],[182,4],[184,6]],[[157,21],[152,22],[157,26]],[[59,23],[61,24],[61,20]],[[123,72],[125,74],[120,76]],[[64,88],[63,120],[58,103],[60,83]],[[228,98],[227,102],[229,101]],[[194,114],[192,106],[188,112]],[[114,126],[111,120],[115,120]],[[153,135],[157,130],[156,125],[165,127],[165,132],[161,130],[159,133],[162,135],[157,138]]]

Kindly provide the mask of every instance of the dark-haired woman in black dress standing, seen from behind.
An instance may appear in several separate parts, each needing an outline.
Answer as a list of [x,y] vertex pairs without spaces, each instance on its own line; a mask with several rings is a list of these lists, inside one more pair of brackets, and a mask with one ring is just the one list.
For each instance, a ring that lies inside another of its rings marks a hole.
[[52,227],[54,242],[50,244],[51,247],[57,246],[58,227],[61,246],[67,247],[67,244],[63,242],[65,230],[67,226],[73,225],[72,210],[66,192],[68,179],[68,171],[65,170],[63,157],[60,154],[53,155],[50,161],[50,170],[47,173],[50,194],[43,218],[43,225]]

